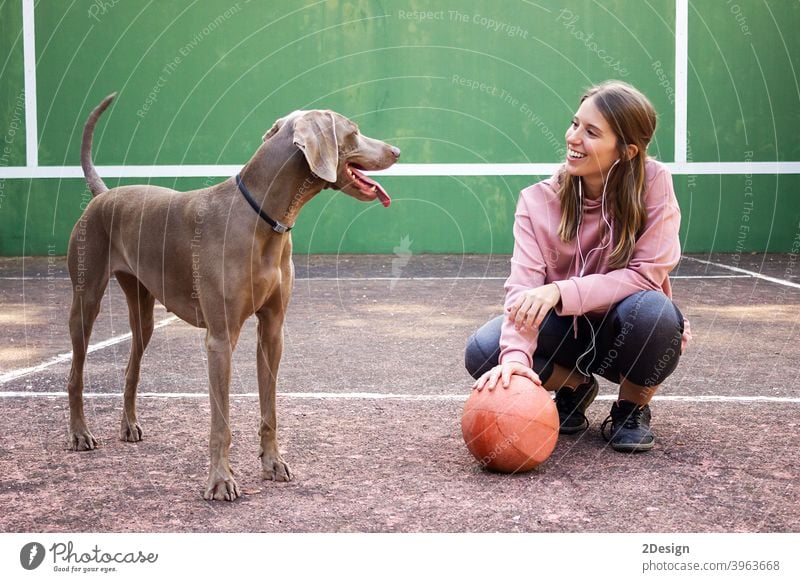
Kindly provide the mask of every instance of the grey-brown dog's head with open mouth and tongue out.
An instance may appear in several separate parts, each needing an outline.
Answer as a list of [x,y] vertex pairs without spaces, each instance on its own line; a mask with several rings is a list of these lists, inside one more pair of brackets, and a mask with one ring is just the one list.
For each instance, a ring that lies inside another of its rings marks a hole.
[[280,131],[291,131],[292,141],[303,152],[311,171],[329,188],[370,202],[380,199],[389,206],[386,190],[364,175],[385,170],[400,157],[400,150],[362,135],[358,126],[335,111],[295,111],[275,122],[264,141]]

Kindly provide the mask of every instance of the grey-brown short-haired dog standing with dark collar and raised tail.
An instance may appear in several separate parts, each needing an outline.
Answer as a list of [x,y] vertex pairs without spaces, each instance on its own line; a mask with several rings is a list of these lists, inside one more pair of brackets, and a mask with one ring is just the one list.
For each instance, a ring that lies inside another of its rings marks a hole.
[[258,318],[258,393],[262,476],[289,481],[278,451],[275,392],[283,323],[294,280],[289,232],[300,209],[326,188],[389,206],[391,198],[365,171],[384,170],[400,150],[362,135],[333,111],[295,111],[275,122],[241,172],[202,190],[157,186],[108,189],[92,162],[92,135],[116,94],[87,119],[81,166],[92,200],[72,231],[67,264],[72,281],[68,379],[73,450],[97,446],[83,409],[83,368],[92,326],[113,273],[125,293],[132,332],[125,370],[120,438],[137,442],[136,388],[153,333],[153,306],[205,328],[211,432],[203,497],[233,501],[241,490],[229,462],[231,354],[244,322]]

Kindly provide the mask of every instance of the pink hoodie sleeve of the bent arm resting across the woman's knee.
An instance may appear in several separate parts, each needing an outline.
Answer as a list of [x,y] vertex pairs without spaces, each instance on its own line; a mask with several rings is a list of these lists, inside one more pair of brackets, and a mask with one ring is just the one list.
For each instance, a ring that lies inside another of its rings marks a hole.
[[561,292],[559,315],[603,311],[637,291],[664,289],[670,271],[681,256],[681,215],[672,178],[663,166],[648,185],[645,198],[647,223],[628,266],[604,274],[556,281]]

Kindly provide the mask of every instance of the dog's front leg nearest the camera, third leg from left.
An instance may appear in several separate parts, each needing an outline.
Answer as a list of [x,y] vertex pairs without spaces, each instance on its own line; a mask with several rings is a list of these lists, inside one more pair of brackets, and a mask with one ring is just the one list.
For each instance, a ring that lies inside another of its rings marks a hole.
[[209,449],[211,466],[203,497],[208,500],[233,501],[241,494],[233,479],[228,453],[231,448],[230,403],[231,354],[235,339],[228,334],[206,335],[208,351],[208,380],[211,400],[211,436]]

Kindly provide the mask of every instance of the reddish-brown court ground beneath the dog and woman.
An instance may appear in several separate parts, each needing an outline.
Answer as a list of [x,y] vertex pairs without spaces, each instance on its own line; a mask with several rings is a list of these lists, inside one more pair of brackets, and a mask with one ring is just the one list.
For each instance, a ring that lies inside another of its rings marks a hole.
[[[508,257],[398,267],[391,256],[296,256],[278,397],[295,479],[260,477],[250,320],[231,385],[244,492],[234,503],[202,499],[203,331],[180,321],[155,331],[139,388],[144,440],[119,441],[130,342],[112,282],[87,364],[100,447],[68,451],[63,258],[0,260],[0,531],[798,532],[800,453],[787,438],[800,423],[795,259],[682,260],[674,299],[694,341],[652,404],[652,452],[617,453],[600,437],[616,393],[603,381],[588,431],[560,437],[538,469],[501,475],[470,456],[460,415],[464,344],[499,313]],[[157,322],[168,317],[157,307]]]

